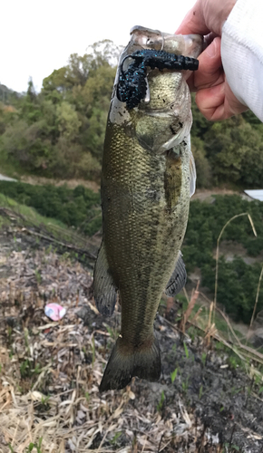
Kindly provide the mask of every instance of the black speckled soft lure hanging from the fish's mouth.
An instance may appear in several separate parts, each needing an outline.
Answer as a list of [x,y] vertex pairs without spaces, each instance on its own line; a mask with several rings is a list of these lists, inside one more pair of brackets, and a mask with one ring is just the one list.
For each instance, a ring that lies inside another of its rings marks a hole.
[[[127,58],[132,58],[134,63],[130,64],[127,71],[123,71],[123,63]],[[121,66],[121,74],[117,84],[117,98],[119,101],[126,102],[130,110],[137,107],[141,99],[145,98],[147,67],[160,70],[184,69],[196,71],[199,67],[199,61],[195,58],[151,49],[142,49],[132,53],[132,55],[127,55]]]

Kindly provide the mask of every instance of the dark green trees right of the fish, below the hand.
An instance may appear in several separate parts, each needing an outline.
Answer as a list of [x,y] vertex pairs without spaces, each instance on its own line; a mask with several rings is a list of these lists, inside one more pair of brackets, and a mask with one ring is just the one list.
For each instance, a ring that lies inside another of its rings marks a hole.
[[[262,188],[263,124],[249,111],[229,120],[206,120],[192,102],[192,151],[197,185]],[[255,165],[257,162],[257,165]]]

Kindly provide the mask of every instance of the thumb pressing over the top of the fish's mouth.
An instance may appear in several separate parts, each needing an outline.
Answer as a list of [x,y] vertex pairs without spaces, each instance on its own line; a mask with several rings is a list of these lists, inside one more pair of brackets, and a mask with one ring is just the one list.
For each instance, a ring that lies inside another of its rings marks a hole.
[[209,32],[205,24],[201,0],[198,0],[182,20],[176,34],[209,34]]

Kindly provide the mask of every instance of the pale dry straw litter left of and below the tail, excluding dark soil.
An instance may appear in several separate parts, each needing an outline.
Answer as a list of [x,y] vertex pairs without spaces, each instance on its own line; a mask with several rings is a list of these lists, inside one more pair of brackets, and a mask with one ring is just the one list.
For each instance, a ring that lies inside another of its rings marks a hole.
[[[105,346],[114,340],[93,321],[92,280],[81,265],[52,252],[0,258],[1,453],[219,451],[180,397],[163,419],[131,387],[99,394]],[[62,321],[44,316],[48,302],[67,308]],[[87,325],[76,316],[83,307]]]

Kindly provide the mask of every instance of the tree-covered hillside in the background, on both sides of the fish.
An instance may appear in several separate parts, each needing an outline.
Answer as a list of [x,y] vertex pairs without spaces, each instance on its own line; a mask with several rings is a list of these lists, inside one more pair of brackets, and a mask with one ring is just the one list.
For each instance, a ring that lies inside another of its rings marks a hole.
[[[100,178],[104,132],[121,49],[105,40],[17,94],[0,85],[0,165],[7,174]],[[260,188],[263,124],[246,112],[209,122],[192,102],[192,150],[198,187]],[[257,165],[255,165],[257,162]]]

